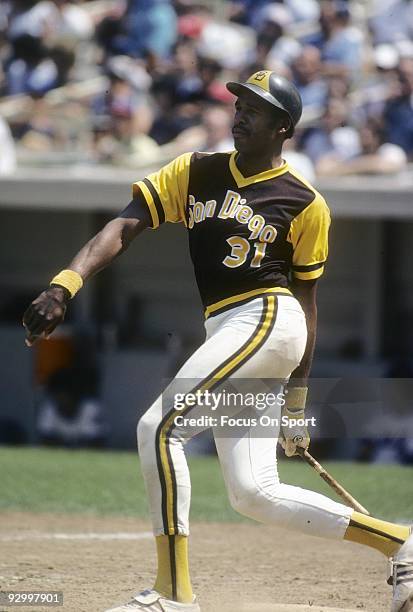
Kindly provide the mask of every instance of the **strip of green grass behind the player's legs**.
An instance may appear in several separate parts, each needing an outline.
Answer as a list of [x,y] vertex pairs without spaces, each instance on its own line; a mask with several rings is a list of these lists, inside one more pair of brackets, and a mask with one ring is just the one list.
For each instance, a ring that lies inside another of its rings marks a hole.
[[[413,515],[413,468],[353,463],[325,467],[381,518]],[[215,457],[190,458],[192,520],[242,520],[230,507]],[[334,496],[300,460],[280,463],[283,482]],[[0,511],[148,517],[139,460],[133,452],[0,448]]]

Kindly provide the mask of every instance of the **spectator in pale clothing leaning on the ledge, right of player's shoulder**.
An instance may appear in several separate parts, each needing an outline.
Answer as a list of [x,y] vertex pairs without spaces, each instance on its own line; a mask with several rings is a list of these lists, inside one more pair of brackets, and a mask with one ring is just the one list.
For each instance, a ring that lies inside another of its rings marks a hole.
[[319,175],[394,174],[404,170],[407,156],[403,149],[385,142],[383,126],[377,119],[368,119],[359,129],[360,151],[350,159],[327,155],[317,164]]

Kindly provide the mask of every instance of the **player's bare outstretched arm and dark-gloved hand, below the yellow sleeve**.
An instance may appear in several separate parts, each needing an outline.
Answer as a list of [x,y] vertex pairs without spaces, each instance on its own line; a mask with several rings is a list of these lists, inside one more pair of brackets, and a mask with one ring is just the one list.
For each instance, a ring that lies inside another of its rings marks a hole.
[[[147,207],[140,199],[134,198],[75,255],[67,268],[66,277],[81,286],[88,278],[112,263],[150,225],[151,217]],[[30,304],[23,316],[28,346],[32,346],[41,336],[49,336],[64,320],[72,295],[73,292],[59,285],[57,280]]]

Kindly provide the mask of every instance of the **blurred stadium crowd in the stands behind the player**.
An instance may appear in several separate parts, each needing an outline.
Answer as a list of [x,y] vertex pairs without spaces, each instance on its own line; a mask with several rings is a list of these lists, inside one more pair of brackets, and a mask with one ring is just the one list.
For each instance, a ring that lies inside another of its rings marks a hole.
[[230,150],[225,82],[260,69],[300,90],[310,180],[412,161],[412,0],[2,0],[0,174]]

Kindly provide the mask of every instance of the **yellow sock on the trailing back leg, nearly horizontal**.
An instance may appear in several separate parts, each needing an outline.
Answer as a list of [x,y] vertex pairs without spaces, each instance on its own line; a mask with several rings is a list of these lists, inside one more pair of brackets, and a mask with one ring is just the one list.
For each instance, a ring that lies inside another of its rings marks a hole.
[[405,525],[388,523],[360,512],[353,512],[344,539],[370,546],[386,557],[392,557],[409,535],[410,528]]

